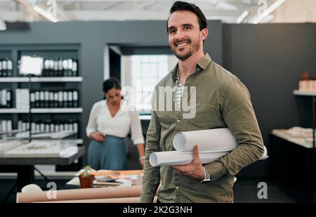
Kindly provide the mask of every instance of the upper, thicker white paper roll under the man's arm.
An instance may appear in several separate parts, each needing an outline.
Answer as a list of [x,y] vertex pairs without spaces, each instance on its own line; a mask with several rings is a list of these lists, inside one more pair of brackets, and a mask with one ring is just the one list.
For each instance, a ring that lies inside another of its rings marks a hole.
[[228,128],[177,133],[173,138],[173,147],[179,152],[192,152],[199,145],[199,151],[234,149],[237,141]]

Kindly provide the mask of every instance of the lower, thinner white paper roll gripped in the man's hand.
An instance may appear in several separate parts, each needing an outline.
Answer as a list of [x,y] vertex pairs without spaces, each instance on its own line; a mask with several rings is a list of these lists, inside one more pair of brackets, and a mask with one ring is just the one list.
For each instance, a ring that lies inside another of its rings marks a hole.
[[[209,164],[216,159],[228,154],[229,150],[222,152],[199,152],[202,164]],[[193,160],[193,152],[152,152],[150,154],[150,164],[152,166],[176,166],[189,164]]]

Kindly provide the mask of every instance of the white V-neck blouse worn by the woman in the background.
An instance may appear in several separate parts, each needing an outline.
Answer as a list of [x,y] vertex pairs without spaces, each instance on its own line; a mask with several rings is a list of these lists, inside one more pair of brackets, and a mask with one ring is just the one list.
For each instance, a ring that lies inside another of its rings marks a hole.
[[142,126],[138,118],[138,112],[125,111],[119,108],[117,114],[112,117],[109,107],[107,107],[107,100],[101,100],[94,103],[88,126],[86,126],[86,135],[89,137],[90,133],[100,131],[105,135],[126,137],[131,129],[131,139],[136,145],[144,143]]

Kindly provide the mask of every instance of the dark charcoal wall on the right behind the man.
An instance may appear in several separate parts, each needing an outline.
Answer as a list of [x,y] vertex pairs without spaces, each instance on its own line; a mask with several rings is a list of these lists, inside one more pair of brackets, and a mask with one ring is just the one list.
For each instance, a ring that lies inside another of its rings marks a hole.
[[[293,91],[301,73],[316,74],[315,58],[315,23],[223,25],[223,66],[249,88],[268,150],[272,129],[311,126],[311,98]],[[240,174],[267,176],[268,162],[256,162]]]

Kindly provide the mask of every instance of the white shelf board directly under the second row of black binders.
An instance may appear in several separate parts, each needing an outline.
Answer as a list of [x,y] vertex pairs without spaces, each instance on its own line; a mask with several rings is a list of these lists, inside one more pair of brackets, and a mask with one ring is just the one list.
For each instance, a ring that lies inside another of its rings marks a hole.
[[[81,107],[69,107],[69,108],[33,108],[32,113],[81,113],[83,109]],[[0,114],[7,113],[28,113],[29,110],[25,109],[0,109]]]

